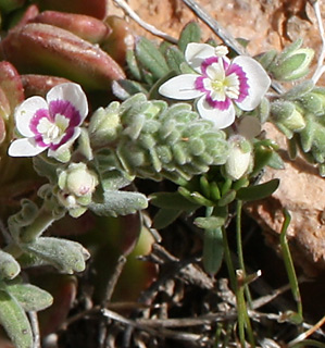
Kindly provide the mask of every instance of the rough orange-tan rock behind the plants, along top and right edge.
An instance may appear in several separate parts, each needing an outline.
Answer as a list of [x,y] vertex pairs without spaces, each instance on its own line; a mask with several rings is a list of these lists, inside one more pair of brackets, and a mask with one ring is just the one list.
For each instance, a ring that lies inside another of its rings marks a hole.
[[[234,37],[249,40],[250,54],[271,48],[280,50],[299,37],[316,53],[320,50],[315,15],[307,0],[198,0],[198,3]],[[128,4],[147,23],[175,38],[189,21],[201,23],[182,0],[130,0]],[[122,13],[113,3],[110,9],[111,13]],[[321,1],[321,9],[325,13],[325,1]],[[130,21],[129,25],[133,33],[152,38],[135,22]],[[204,24],[201,27],[204,38],[215,38]],[[266,228],[268,243],[277,247],[284,220],[282,211],[286,207],[292,215],[289,239],[295,260],[309,274],[325,270],[325,179],[302,159],[290,162],[282,135],[272,126],[266,132],[267,137],[282,145],[286,167],[266,171],[263,179],[278,177],[280,187],[272,198],[251,206],[250,211]]]

